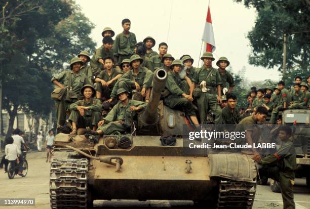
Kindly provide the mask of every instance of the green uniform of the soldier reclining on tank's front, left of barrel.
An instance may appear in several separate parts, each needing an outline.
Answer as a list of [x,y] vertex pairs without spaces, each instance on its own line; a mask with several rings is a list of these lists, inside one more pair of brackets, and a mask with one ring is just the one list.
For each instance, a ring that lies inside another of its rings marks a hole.
[[[110,135],[114,132],[128,131],[132,124],[132,118],[136,114],[135,111],[132,112],[130,110],[130,106],[141,107],[144,109],[147,106],[147,103],[136,100],[129,100],[127,106],[124,106],[122,102],[119,101],[119,103],[115,105],[104,118],[104,125],[99,127],[97,131],[101,130],[104,135]],[[124,121],[124,124],[119,123],[119,121]]]

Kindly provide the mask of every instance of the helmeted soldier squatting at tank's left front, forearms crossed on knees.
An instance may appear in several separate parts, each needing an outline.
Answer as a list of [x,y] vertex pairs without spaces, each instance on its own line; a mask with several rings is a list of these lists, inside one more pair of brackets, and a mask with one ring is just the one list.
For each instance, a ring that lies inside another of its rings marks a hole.
[[101,102],[93,98],[96,95],[95,89],[91,85],[85,85],[81,93],[84,99],[70,104],[68,108],[71,110],[69,121],[72,124],[72,132],[70,134],[76,134],[76,128],[91,127],[95,131],[101,118]]

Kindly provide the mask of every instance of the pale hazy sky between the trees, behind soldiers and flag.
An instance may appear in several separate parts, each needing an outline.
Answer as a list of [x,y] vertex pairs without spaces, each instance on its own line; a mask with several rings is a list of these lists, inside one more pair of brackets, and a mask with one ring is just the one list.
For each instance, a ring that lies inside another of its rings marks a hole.
[[[102,44],[101,32],[104,27],[111,27],[116,36],[123,31],[122,20],[128,18],[131,21],[130,31],[135,33],[138,42],[146,36],[152,36],[156,40],[154,51],[158,51],[158,44],[166,42],[169,54],[176,59],[183,54],[189,54],[194,59],[195,67],[198,66],[202,49],[201,39],[208,2],[208,0],[76,0],[85,16],[95,24],[91,37],[96,41],[97,47]],[[245,77],[250,81],[280,78],[276,69],[255,67],[248,63],[251,47],[246,34],[255,24],[254,9],[247,9],[243,4],[237,4],[232,0],[210,0],[210,11],[216,46],[213,53],[215,58],[213,67],[217,67],[216,61],[224,56],[228,58],[235,73],[245,66],[247,69]]]

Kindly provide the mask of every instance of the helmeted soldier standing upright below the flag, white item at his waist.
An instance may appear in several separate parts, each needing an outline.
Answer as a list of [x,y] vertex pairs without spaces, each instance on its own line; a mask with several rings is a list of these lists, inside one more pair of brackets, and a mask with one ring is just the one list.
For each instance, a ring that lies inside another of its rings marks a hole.
[[215,123],[222,124],[222,110],[219,106],[222,103],[221,76],[211,65],[211,62],[215,60],[211,52],[205,52],[201,60],[204,65],[196,70],[192,78],[193,85],[199,85],[194,90],[194,96],[197,98],[200,121],[206,121],[207,113],[211,109],[215,114]]

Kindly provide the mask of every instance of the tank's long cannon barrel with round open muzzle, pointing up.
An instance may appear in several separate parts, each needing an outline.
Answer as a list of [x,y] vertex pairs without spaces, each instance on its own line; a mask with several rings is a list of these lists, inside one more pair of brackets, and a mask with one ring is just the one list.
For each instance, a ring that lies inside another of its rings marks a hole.
[[157,112],[158,104],[161,99],[162,91],[165,89],[167,72],[164,69],[157,69],[153,75],[153,87],[149,98],[149,103],[142,113],[141,120],[145,126],[156,124],[159,120]]

